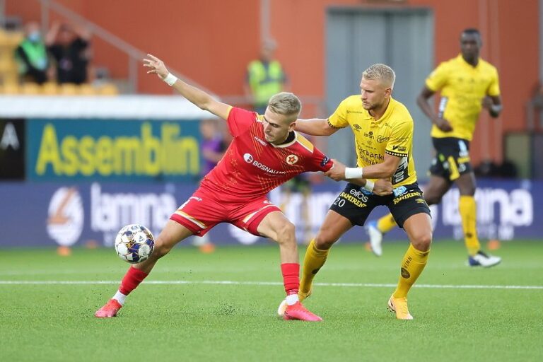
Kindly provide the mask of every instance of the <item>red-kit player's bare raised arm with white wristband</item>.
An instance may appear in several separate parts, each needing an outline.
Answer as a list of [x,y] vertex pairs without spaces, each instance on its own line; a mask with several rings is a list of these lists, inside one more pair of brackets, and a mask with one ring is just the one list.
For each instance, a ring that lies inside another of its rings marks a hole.
[[168,83],[175,91],[179,92],[183,97],[202,110],[209,111],[222,119],[228,118],[230,105],[221,103],[206,92],[178,79],[168,71],[162,60],[151,54],[147,54],[147,58],[144,59],[144,66],[148,68],[147,74],[156,74],[160,80]]

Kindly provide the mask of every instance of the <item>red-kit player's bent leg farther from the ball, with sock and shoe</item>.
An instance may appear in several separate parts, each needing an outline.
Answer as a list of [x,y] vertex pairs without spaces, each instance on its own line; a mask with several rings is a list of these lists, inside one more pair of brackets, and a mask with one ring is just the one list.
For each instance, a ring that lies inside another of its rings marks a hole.
[[279,244],[281,273],[286,291],[284,320],[321,321],[321,317],[305,309],[298,299],[300,264],[298,262],[296,230],[293,223],[288,221],[282,212],[273,211],[262,219],[257,230],[261,235],[266,235]]

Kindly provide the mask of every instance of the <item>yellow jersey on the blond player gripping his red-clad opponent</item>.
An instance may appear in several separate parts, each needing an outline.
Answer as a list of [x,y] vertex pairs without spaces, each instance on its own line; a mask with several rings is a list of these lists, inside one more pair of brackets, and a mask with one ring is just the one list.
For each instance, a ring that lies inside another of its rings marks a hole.
[[385,153],[402,158],[392,176],[395,187],[416,182],[412,156],[413,118],[407,107],[390,98],[383,117],[375,119],[362,106],[360,95],[344,99],[328,119],[337,128],[351,127],[358,167],[383,163]]

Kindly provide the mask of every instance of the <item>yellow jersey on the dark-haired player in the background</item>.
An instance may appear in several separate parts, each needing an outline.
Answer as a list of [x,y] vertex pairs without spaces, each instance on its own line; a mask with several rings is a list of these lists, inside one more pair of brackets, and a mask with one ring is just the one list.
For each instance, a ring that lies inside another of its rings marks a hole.
[[440,91],[438,115],[452,126],[451,132],[443,132],[434,124],[431,136],[437,138],[471,141],[481,113],[481,101],[486,95],[500,95],[496,68],[480,58],[477,66],[472,66],[462,54],[439,64],[426,78],[426,87]]

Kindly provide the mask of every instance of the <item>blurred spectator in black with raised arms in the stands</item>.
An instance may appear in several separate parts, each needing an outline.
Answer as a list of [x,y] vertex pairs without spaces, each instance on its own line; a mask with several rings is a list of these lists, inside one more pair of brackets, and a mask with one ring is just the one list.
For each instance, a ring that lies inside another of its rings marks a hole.
[[57,81],[81,84],[88,79],[91,33],[66,23],[54,23],[45,43],[57,63]]

